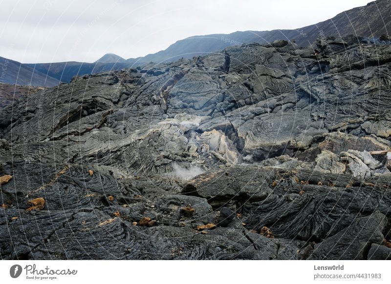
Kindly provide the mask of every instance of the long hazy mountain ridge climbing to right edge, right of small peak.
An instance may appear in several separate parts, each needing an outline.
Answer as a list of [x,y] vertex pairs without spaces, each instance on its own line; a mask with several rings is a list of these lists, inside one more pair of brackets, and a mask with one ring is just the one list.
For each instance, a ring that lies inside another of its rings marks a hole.
[[390,27],[391,1],[377,0],[366,6],[342,12],[332,19],[295,30],[244,31],[186,38],[176,41],[166,50],[149,54],[139,61],[174,61],[181,57],[190,59],[194,56],[219,51],[228,46],[250,42],[264,44],[275,40],[294,40],[300,46],[308,46],[319,37],[350,34],[372,39],[387,35],[387,28],[390,29]]

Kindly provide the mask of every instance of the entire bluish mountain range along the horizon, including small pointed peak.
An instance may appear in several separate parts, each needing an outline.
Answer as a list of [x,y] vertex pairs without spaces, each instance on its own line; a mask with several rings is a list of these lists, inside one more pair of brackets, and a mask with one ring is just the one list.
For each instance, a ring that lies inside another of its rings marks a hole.
[[[308,46],[319,37],[347,36],[350,34],[356,37],[378,39],[382,35],[388,35],[387,28],[390,26],[391,1],[377,0],[368,3],[366,6],[342,12],[332,19],[295,30],[244,31],[231,34],[194,36],[176,41],[167,49],[157,53],[128,60],[115,54],[106,54],[94,63],[71,61],[22,64],[22,67],[27,67],[27,69],[22,68],[22,74],[20,74],[18,82],[16,81],[16,75],[21,63],[16,62],[14,66],[8,67],[9,75],[6,82],[28,85],[31,81],[32,85],[53,86],[58,81],[69,82],[75,75],[120,70],[132,66],[141,66],[149,62],[175,61],[182,57],[191,59],[194,56],[217,52],[225,47],[250,42],[264,44],[275,40],[287,40],[295,41],[300,46]],[[34,74],[32,74],[33,70],[35,70]],[[11,76],[11,74],[13,75]]]

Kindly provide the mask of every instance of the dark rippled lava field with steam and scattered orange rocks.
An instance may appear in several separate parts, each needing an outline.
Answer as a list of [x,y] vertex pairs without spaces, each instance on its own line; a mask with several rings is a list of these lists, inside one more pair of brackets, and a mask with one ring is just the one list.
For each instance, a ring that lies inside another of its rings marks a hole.
[[30,94],[0,111],[0,256],[388,259],[390,85],[390,45],[347,37]]

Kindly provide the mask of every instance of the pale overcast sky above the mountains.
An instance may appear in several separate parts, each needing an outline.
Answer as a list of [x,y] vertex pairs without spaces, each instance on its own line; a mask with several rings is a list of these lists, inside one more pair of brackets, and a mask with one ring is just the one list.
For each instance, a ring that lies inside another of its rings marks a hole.
[[370,0],[0,0],[0,56],[23,63],[125,59],[195,35],[294,29]]

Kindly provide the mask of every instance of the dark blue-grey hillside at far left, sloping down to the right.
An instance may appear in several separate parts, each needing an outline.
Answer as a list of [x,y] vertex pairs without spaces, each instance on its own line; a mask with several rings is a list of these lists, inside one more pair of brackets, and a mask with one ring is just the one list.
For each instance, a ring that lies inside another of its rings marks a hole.
[[4,73],[0,73],[0,83],[53,87],[60,82],[47,72],[42,73],[34,67],[3,57],[0,57],[0,69]]

